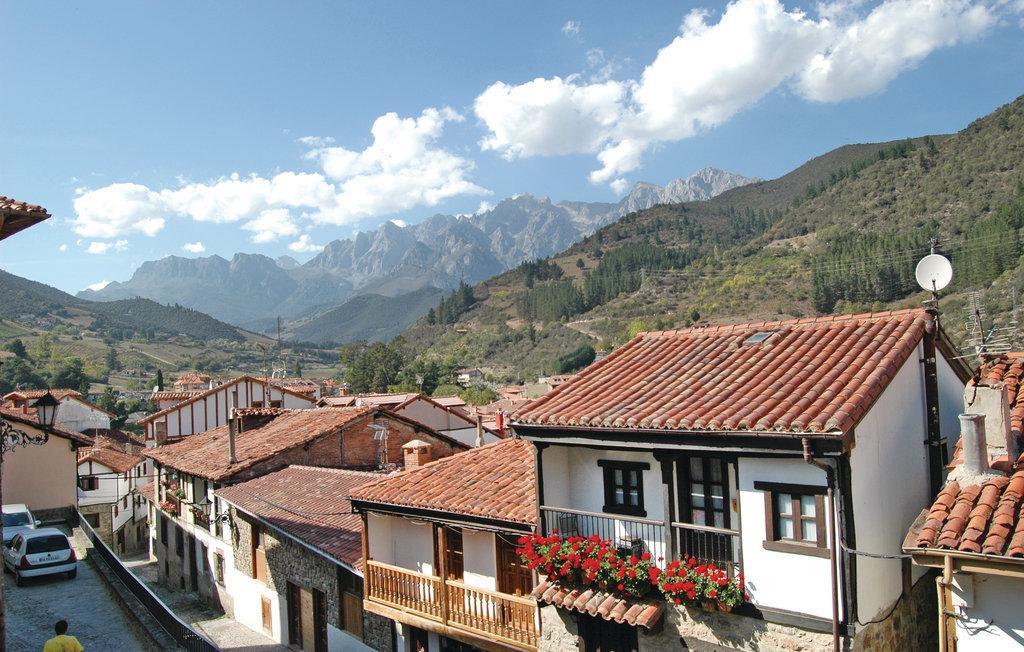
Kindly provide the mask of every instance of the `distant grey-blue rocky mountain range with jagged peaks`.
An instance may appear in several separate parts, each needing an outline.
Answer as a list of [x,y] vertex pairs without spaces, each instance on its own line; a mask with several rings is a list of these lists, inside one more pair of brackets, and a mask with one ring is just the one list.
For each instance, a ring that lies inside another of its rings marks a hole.
[[[375,338],[386,339],[422,314],[421,304],[428,296],[439,296],[436,290],[455,288],[462,280],[478,282],[525,260],[551,256],[634,211],[707,200],[756,181],[705,168],[665,186],[638,183],[617,203],[553,203],[518,194],[474,215],[438,214],[411,225],[388,221],[376,230],[329,243],[303,264],[288,256],[274,260],[244,253],[230,260],[167,256],[143,263],[126,281],[78,296],[93,301],[143,297],[257,331],[274,329],[281,316],[294,327],[286,336],[310,337],[315,334],[304,324],[360,295],[386,298],[425,291],[408,303],[404,313],[394,306],[388,328],[370,329]],[[372,304],[347,304],[334,314],[369,310]],[[343,321],[367,323],[350,314]],[[316,323],[331,333],[330,338],[316,338],[322,341],[346,341],[370,332],[365,325],[348,332],[324,319]]]

